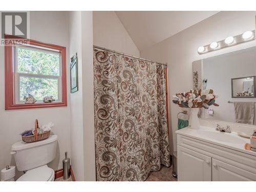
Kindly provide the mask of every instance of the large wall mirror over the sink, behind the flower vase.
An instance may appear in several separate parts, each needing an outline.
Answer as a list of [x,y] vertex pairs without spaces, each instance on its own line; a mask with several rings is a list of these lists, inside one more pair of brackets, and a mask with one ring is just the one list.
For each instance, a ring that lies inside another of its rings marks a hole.
[[256,125],[255,75],[255,47],[194,61],[194,89],[214,89],[220,105],[200,109],[199,117]]

